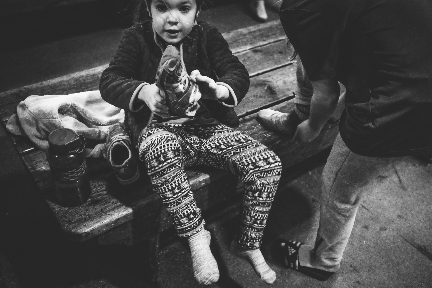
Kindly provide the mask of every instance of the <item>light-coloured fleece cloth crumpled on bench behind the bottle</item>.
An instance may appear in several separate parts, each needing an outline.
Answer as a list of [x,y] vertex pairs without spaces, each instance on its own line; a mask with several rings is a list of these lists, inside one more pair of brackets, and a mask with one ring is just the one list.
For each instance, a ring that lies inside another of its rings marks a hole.
[[[124,122],[124,110],[105,102],[96,90],[29,96],[18,104],[6,128],[15,135],[25,133],[37,148],[46,150],[49,133],[58,128],[70,128],[86,139],[102,140],[109,127],[118,122]],[[86,149],[86,156],[101,157],[103,146]]]

